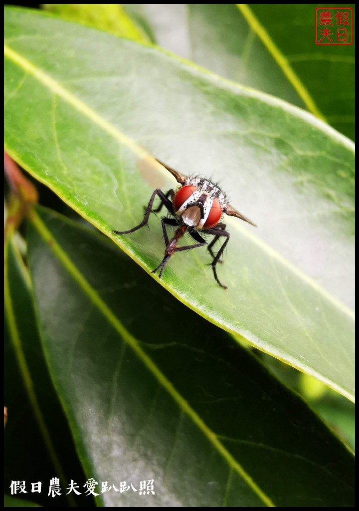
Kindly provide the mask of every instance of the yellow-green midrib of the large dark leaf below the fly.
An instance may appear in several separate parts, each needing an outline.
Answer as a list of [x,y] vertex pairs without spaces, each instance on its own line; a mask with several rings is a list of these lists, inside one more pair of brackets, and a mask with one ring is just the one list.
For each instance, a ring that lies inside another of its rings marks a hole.
[[138,339],[133,337],[128,330],[123,326],[122,322],[115,316],[112,310],[107,306],[105,301],[100,297],[98,292],[89,284],[85,276],[80,272],[76,265],[70,260],[65,250],[59,245],[57,240],[52,235],[51,231],[46,227],[44,222],[33,210],[30,214],[30,220],[36,228],[38,234],[50,247],[55,257],[60,261],[65,270],[74,278],[80,286],[84,294],[89,298],[92,304],[103,314],[112,328],[121,336],[128,346],[131,347],[135,355],[147,367],[152,376],[156,378],[158,383],[170,394],[173,400],[177,403],[179,408],[186,413],[190,420],[201,430],[204,436],[208,439],[213,448],[225,459],[230,469],[235,471],[247,484],[251,487],[252,491],[258,498],[264,502],[268,507],[276,507],[273,501],[268,497],[264,491],[260,489],[258,484],[253,481],[251,476],[245,471],[240,463],[230,454],[229,451],[220,442],[216,433],[214,433],[201,419],[198,413],[190,407],[188,402],[176,390],[173,384],[164,376],[159,367],[153,362],[140,347]]

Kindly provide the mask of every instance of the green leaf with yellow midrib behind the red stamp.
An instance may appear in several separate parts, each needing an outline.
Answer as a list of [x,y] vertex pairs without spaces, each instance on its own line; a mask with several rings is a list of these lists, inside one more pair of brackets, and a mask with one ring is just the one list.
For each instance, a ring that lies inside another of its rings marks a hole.
[[315,9],[321,6],[126,4],[125,9],[150,27],[163,48],[306,108],[354,138],[354,44],[315,44]]

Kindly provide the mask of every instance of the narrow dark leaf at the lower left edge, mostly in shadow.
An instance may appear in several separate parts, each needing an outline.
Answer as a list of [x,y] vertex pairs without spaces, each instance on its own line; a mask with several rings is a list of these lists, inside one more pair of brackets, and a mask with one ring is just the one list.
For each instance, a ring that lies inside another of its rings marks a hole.
[[[20,493],[21,497],[53,506],[47,493],[50,479],[58,477],[63,491],[56,497],[57,505],[74,507],[84,502],[66,497],[64,489],[70,478],[86,479],[44,360],[29,275],[11,240],[5,248],[5,491],[10,493],[11,481],[25,481],[27,494]],[[33,494],[31,483],[38,481],[41,494]],[[86,504],[91,505],[88,498]],[[17,507],[25,505],[35,504]]]

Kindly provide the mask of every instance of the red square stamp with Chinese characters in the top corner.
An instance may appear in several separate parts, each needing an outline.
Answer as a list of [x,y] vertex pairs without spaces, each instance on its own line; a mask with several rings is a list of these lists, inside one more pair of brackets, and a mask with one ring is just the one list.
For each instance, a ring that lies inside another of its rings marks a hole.
[[351,7],[317,7],[315,11],[316,44],[353,43]]

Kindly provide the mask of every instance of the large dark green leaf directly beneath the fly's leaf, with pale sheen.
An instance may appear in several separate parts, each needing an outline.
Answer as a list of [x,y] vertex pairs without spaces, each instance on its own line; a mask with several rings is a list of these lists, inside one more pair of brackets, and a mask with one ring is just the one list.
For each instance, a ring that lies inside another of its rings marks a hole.
[[41,336],[86,473],[137,489],[104,506],[352,505],[351,454],[296,394],[104,237],[37,211]]

